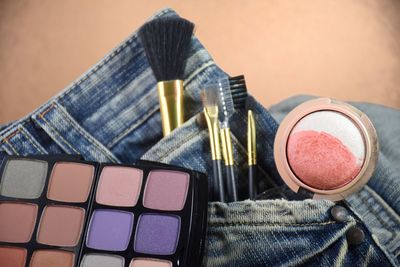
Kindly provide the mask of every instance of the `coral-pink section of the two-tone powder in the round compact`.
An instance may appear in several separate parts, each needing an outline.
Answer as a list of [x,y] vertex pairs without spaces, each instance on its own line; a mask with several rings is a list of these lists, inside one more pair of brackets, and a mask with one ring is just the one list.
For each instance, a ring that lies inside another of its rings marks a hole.
[[289,136],[287,157],[292,171],[302,182],[321,190],[346,185],[362,166],[338,138],[312,130]]

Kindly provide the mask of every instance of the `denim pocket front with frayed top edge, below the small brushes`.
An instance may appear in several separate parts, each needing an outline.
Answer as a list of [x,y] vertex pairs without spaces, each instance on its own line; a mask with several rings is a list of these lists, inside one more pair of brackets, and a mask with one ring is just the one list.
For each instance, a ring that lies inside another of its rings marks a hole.
[[210,203],[205,266],[374,266],[373,242],[349,246],[349,216],[331,218],[326,200]]

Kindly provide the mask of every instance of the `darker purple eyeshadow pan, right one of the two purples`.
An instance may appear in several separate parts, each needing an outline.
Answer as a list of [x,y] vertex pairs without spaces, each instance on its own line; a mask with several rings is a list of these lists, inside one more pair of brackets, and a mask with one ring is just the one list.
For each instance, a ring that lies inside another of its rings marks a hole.
[[161,214],[142,214],[139,218],[134,250],[140,253],[171,255],[179,238],[180,218]]

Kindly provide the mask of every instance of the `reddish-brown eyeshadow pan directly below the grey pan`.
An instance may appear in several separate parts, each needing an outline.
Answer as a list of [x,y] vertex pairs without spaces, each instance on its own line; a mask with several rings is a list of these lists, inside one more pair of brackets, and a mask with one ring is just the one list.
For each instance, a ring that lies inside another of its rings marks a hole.
[[28,242],[35,227],[37,210],[34,204],[0,203],[0,241]]

